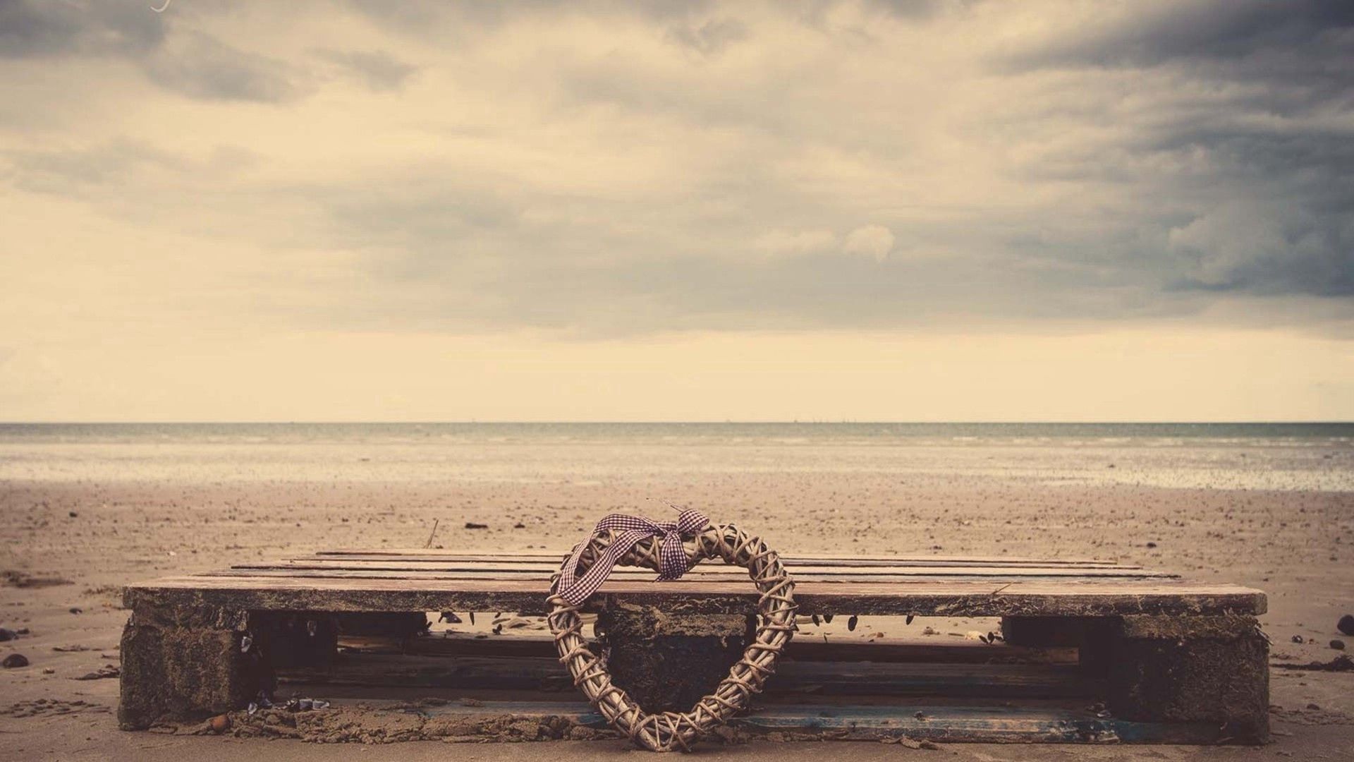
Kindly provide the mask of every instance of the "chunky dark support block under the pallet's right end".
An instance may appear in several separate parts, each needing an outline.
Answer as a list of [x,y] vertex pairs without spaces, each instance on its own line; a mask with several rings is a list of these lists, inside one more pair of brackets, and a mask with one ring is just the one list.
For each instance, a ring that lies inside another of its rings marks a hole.
[[1116,717],[1208,721],[1235,742],[1269,739],[1269,640],[1254,617],[1124,617],[1109,654]]

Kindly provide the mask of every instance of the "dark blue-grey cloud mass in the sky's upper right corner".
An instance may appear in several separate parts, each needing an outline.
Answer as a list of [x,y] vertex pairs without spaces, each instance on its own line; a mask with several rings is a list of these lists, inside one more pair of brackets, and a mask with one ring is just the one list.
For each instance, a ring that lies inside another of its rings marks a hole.
[[1186,96],[1133,114],[1109,156],[1057,163],[1064,178],[1122,172],[1183,216],[1156,256],[1163,289],[1354,296],[1354,4],[1166,4],[998,61],[1078,84],[1137,73]]

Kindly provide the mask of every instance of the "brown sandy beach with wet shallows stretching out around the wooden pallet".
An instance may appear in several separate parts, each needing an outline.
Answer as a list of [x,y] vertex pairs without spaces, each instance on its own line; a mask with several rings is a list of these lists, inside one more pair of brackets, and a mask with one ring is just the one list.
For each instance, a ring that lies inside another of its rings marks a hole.
[[[608,511],[670,500],[785,552],[1094,556],[1269,594],[1271,664],[1328,662],[1354,611],[1354,446],[1293,439],[853,439],[727,434],[7,435],[0,442],[0,755],[8,759],[490,759],[619,742],[329,747],[116,728],[119,586],[326,548],[563,552]],[[466,522],[487,529],[464,529]],[[517,527],[517,525],[523,525]],[[969,622],[953,621],[963,632]],[[845,636],[845,633],[842,633]],[[1301,639],[1303,643],[1296,643]],[[1354,643],[1354,639],[1343,640]],[[91,679],[81,679],[91,678]],[[959,759],[1354,758],[1354,674],[1271,670],[1274,743],[951,744]],[[709,757],[926,754],[709,744]]]

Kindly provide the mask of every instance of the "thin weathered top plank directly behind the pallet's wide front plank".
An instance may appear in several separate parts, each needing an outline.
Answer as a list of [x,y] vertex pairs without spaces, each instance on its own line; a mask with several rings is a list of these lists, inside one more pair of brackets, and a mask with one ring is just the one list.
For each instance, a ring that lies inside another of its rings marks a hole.
[[[343,571],[385,571],[402,574],[420,572],[456,572],[456,574],[505,574],[517,576],[531,576],[550,579],[559,568],[558,564],[519,564],[519,563],[474,563],[474,561],[439,561],[408,564],[403,561],[366,561],[366,560],[287,560],[287,561],[249,561],[233,564],[233,569],[343,569]],[[876,567],[835,567],[816,564],[792,564],[788,568],[796,578],[807,575],[842,576],[842,578],[871,578],[871,576],[1124,576],[1124,578],[1174,578],[1170,572],[1150,569],[1117,569],[1117,568],[1068,568],[1068,567],[927,567],[927,565],[876,565]],[[634,567],[616,568],[613,575],[647,574],[650,569]],[[692,567],[688,575],[733,575],[747,576],[747,569],[723,563],[704,563]],[[512,578],[501,578],[512,579]]]

